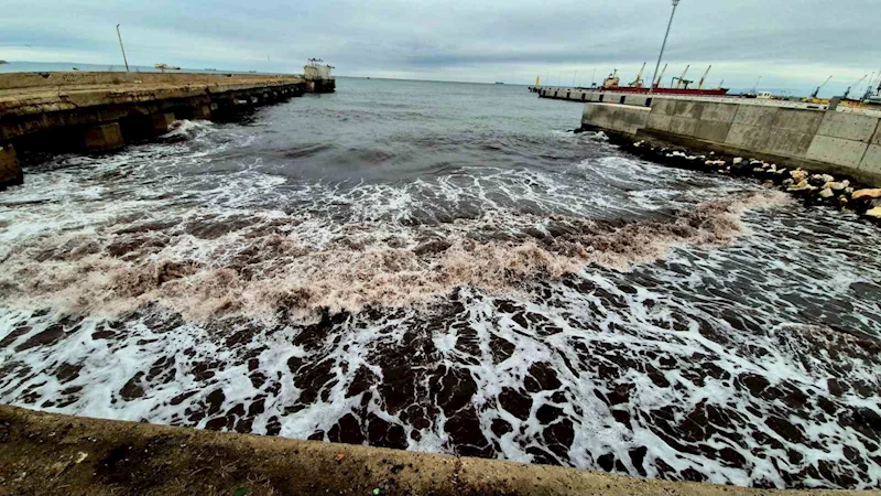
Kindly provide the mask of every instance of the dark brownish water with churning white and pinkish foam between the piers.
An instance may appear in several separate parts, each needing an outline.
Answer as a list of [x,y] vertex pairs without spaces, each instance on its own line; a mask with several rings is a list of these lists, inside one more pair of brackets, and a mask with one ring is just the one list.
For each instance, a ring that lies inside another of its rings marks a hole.
[[338,83],[31,158],[0,195],[0,401],[881,484],[877,228],[627,157],[525,88]]

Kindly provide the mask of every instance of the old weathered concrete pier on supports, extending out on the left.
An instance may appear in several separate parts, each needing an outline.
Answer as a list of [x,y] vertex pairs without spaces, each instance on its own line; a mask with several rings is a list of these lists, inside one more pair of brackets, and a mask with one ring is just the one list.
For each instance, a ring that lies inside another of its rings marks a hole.
[[307,91],[291,75],[0,74],[0,188],[21,184],[21,150],[102,152]]

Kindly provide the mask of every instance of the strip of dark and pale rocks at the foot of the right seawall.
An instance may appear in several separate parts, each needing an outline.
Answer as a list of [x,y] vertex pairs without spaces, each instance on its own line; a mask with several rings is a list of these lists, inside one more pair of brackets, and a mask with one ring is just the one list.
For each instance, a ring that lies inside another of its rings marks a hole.
[[614,131],[583,127],[575,132],[596,131],[629,153],[663,165],[752,177],[797,196],[806,206],[827,205],[855,212],[881,225],[881,188],[847,175],[831,175],[802,168],[786,169],[772,162],[713,151],[695,151],[654,139],[634,138]]

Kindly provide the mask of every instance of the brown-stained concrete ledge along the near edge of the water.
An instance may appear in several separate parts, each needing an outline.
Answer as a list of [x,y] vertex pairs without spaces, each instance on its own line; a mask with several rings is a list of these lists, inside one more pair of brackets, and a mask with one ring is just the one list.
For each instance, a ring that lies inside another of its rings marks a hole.
[[387,449],[39,413],[0,406],[0,495],[835,496],[672,483]]

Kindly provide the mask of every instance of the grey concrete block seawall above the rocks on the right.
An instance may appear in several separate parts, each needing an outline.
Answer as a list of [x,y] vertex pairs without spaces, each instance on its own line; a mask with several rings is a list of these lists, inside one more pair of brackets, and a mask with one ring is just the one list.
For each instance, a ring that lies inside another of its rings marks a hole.
[[877,116],[751,100],[645,99],[586,104],[581,125],[881,184]]

